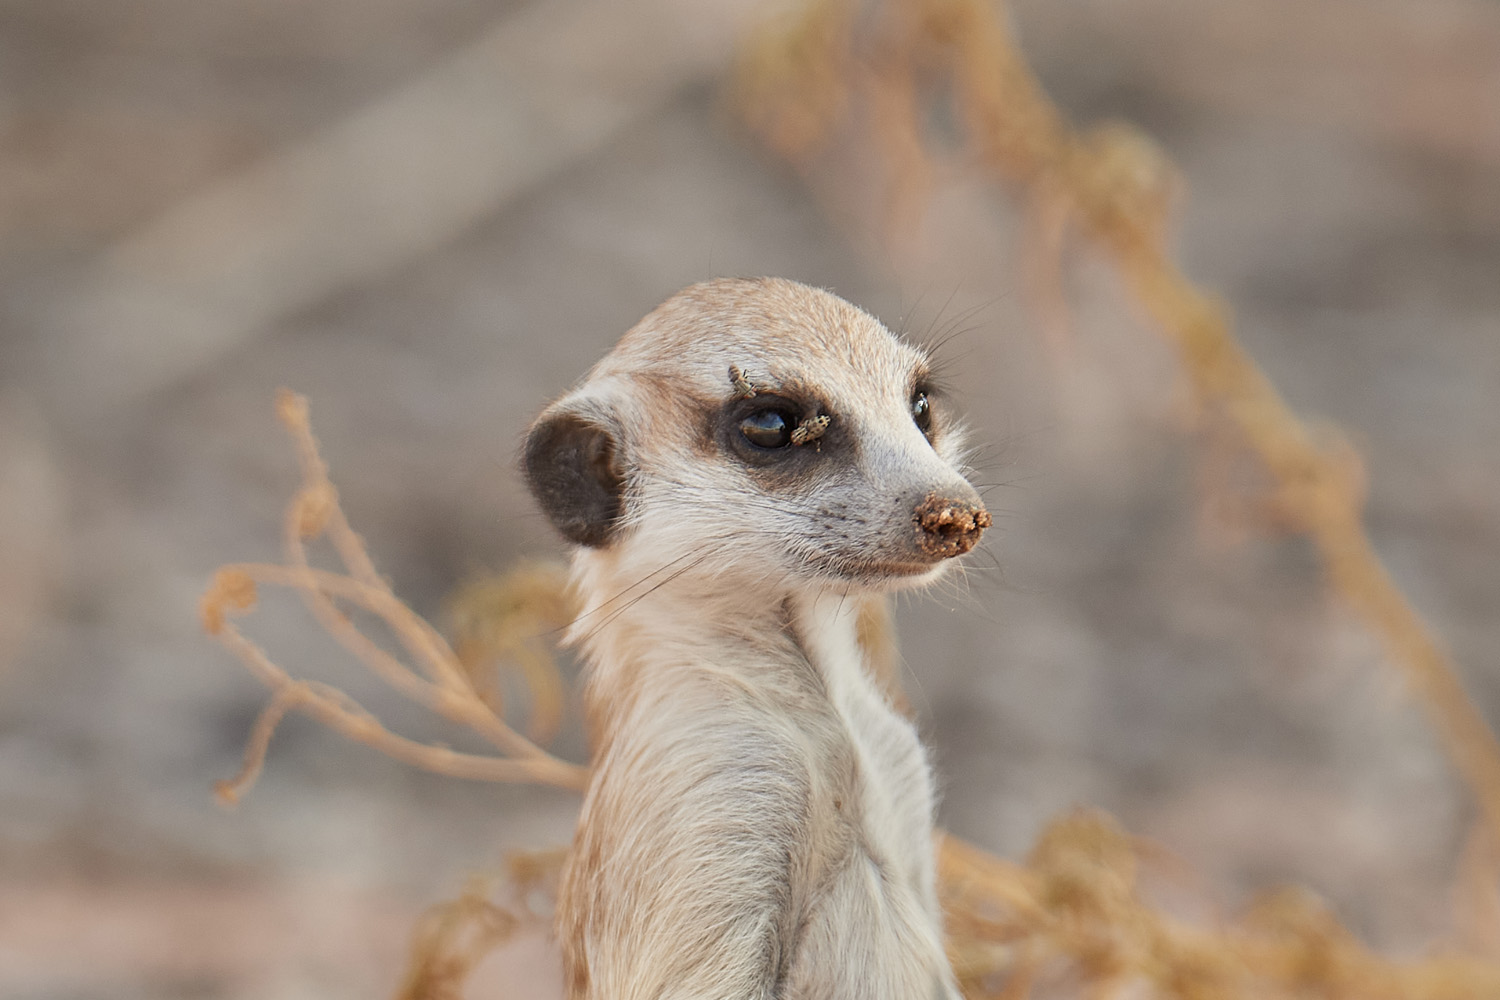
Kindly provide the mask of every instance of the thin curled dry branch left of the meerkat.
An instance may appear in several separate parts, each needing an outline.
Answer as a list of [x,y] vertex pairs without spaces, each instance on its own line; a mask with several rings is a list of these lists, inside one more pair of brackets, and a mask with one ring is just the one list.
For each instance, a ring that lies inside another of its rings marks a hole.
[[[276,412],[297,445],[302,489],[286,507],[282,544],[285,562],[236,564],[220,567],[202,595],[201,616],[214,636],[255,678],[270,688],[266,705],[244,750],[244,765],[234,778],[218,786],[222,802],[232,804],[255,783],[266,750],[278,723],[286,712],[310,715],[334,732],[374,747],[398,760],[459,778],[484,781],[524,781],[564,789],[582,789],[586,769],[560,760],[512,729],[480,694],[472,664],[453,651],[448,642],[398,598],[375,571],[358,535],[350,528],[339,505],[338,490],[308,423],[308,402],[291,391],[276,399]],[[308,562],[306,544],[316,538],[332,543],[342,573],[320,570]],[[258,588],[279,586],[296,591],[318,622],[372,673],[405,697],[464,726],[496,754],[470,754],[408,739],[388,730],[378,718],[338,688],[302,681],[276,666],[261,646],[231,621],[255,607]],[[366,636],[344,609],[380,618],[396,636],[406,657],[392,655]],[[555,678],[537,663],[528,663],[526,678],[536,690],[536,715],[543,717],[543,732],[555,729],[561,690]],[[536,732],[536,727],[534,727]]]

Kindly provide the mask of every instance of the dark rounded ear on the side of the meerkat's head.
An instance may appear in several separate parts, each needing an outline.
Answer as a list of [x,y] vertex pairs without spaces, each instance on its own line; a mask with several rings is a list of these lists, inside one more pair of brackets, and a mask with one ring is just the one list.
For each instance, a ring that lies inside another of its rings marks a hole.
[[546,412],[526,433],[526,486],[568,541],[609,544],[624,513],[626,475],[608,418],[572,409]]

